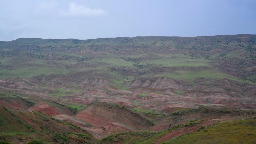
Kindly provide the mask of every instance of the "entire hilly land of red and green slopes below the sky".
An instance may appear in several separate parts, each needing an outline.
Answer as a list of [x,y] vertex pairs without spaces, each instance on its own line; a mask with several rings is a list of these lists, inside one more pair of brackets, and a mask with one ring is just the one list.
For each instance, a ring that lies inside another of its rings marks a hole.
[[256,141],[255,44],[249,34],[1,41],[0,141],[203,143],[226,125],[218,142]]

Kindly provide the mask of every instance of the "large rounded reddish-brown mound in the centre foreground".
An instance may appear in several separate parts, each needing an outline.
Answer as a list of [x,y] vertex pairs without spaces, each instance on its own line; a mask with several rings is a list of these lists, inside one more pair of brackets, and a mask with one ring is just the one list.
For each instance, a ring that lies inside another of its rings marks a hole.
[[129,108],[104,102],[94,102],[76,115],[93,125],[118,122],[132,129],[147,129],[153,124]]

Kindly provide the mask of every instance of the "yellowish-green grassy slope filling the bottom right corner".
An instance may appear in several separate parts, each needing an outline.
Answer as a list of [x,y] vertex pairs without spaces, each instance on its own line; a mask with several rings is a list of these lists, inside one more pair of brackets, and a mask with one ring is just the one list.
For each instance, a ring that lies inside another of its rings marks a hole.
[[254,143],[256,119],[220,122],[163,143]]

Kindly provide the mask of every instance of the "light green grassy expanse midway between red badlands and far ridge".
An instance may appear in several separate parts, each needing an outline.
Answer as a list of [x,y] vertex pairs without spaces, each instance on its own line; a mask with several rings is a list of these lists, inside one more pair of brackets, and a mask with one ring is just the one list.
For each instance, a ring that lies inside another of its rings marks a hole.
[[[60,55],[72,55],[67,53],[60,53]],[[73,54],[75,57],[83,57],[79,54]],[[130,58],[140,58],[147,56],[147,54],[144,55],[125,55]],[[55,60],[54,62],[56,64],[47,64],[47,61],[51,60],[44,60],[44,59],[30,59],[26,61],[26,65],[20,66],[20,67],[14,67],[11,70],[9,69],[1,69],[0,70],[0,79],[6,79],[6,78],[14,78],[14,77],[32,77],[40,74],[65,74],[70,72],[79,72],[79,71],[86,71],[86,70],[97,70],[97,73],[102,73],[104,75],[108,75],[111,80],[111,85],[115,86],[119,89],[127,89],[125,87],[125,84],[127,82],[131,81],[134,77],[129,78],[128,81],[126,80],[127,76],[122,76],[116,72],[112,72],[110,70],[111,67],[135,67],[134,64],[140,64],[140,65],[146,65],[151,64],[153,66],[164,66],[164,67],[180,67],[180,66],[189,66],[189,67],[200,67],[200,66],[210,66],[209,60],[206,59],[197,59],[188,55],[182,55],[182,54],[154,54],[154,57],[158,57],[160,59],[155,60],[142,60],[139,63],[132,62],[132,61],[125,61],[122,58],[116,57],[116,55],[113,54],[107,54],[104,56],[99,56],[100,58],[94,58],[89,61],[84,61],[87,64],[95,65],[102,63],[97,66],[86,66],[86,67],[76,67],[70,69],[69,65],[78,63],[74,59],[69,60]],[[4,65],[12,65],[15,63],[15,58],[19,58],[16,56],[13,57],[1,57],[0,62]],[[105,64],[108,63],[108,64]],[[31,64],[34,64],[31,65]],[[97,75],[95,73],[95,75]],[[163,72],[163,73],[148,73],[146,75],[142,75],[140,77],[168,77],[172,79],[185,79],[188,81],[193,82],[198,77],[204,77],[204,78],[212,78],[215,80],[222,79],[222,78],[228,78],[231,80],[237,80],[244,83],[250,83],[249,81],[244,81],[240,78],[236,78],[234,76],[231,76],[229,74],[220,72],[217,68],[208,68],[208,69],[202,69],[199,71],[193,71],[193,70],[178,70],[173,72]]]

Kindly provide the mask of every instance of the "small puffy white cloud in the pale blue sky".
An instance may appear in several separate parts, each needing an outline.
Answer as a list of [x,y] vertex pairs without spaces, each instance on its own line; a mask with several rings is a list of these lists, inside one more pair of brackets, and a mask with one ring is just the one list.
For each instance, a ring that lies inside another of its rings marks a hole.
[[89,8],[85,5],[78,5],[76,3],[70,3],[68,11],[60,11],[60,15],[63,17],[88,17],[88,16],[101,16],[107,14],[107,11],[97,8]]

